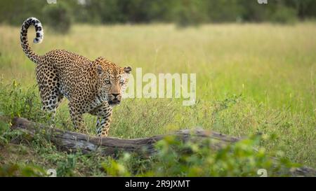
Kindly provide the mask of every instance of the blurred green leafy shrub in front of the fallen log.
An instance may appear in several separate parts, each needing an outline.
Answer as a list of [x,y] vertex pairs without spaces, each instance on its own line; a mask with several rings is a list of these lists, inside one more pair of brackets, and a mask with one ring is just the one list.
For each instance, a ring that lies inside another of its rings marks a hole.
[[[135,158],[125,154],[119,160],[103,163],[110,176],[258,176],[259,169],[265,169],[268,176],[289,176],[291,167],[298,167],[288,160],[272,160],[265,149],[258,148],[262,137],[254,136],[214,150],[206,141],[182,143],[173,136],[166,137],[156,145],[157,155],[150,158],[145,166],[136,168]],[[140,164],[140,162],[138,162]]]

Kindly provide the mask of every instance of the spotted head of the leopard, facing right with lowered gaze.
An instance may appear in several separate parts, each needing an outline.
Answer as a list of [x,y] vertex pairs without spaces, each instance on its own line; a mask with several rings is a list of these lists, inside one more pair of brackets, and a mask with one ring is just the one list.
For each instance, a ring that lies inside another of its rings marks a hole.
[[107,101],[111,106],[120,104],[122,93],[126,90],[129,82],[129,74],[131,67],[120,67],[116,64],[103,60],[96,66],[100,88],[107,97]]

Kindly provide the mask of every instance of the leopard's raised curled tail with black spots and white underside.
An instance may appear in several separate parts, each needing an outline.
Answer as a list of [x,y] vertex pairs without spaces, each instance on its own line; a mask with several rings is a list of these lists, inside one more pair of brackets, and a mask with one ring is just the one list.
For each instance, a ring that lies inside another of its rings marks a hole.
[[36,31],[36,37],[34,38],[34,43],[41,43],[44,38],[44,30],[43,27],[41,26],[41,22],[35,17],[29,17],[25,22],[22,24],[21,28],[21,34],[20,34],[20,39],[21,39],[21,45],[22,49],[25,52],[25,55],[29,57],[33,62],[37,64],[37,61],[39,59],[39,55],[37,55],[32,48],[29,46],[29,42],[27,41],[27,29],[29,29],[29,26],[34,25],[35,31]]

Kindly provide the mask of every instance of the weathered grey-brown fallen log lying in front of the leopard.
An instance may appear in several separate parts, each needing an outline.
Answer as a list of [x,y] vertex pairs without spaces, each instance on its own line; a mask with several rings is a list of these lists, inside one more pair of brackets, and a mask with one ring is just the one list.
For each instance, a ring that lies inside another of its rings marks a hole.
[[[37,124],[25,118],[13,118],[11,129],[17,129],[27,134],[28,139],[33,139],[34,135],[45,133],[45,138],[49,139],[60,150],[67,152],[89,153],[98,151],[102,155],[117,155],[119,152],[135,152],[143,155],[151,155],[156,150],[154,143],[164,139],[166,136],[175,136],[181,141],[202,141],[210,139],[211,148],[219,149],[230,143],[235,143],[241,139],[220,134],[218,132],[204,129],[182,129],[178,132],[166,135],[151,136],[142,139],[119,139],[114,137],[97,137],[77,132],[70,132],[47,125]],[[47,136],[48,135],[48,136]],[[13,140],[18,141],[18,140]],[[201,143],[201,142],[200,142]],[[292,176],[316,176],[316,171],[308,167],[291,169]]]

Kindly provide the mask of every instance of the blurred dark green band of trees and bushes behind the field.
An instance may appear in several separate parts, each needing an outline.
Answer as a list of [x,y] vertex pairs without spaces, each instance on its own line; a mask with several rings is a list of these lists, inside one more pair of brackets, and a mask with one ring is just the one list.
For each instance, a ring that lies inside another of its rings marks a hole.
[[[30,16],[66,32],[72,23],[176,23],[180,27],[209,22],[294,23],[314,19],[315,0],[2,0],[0,22],[20,25]],[[62,21],[62,22],[61,22]]]

